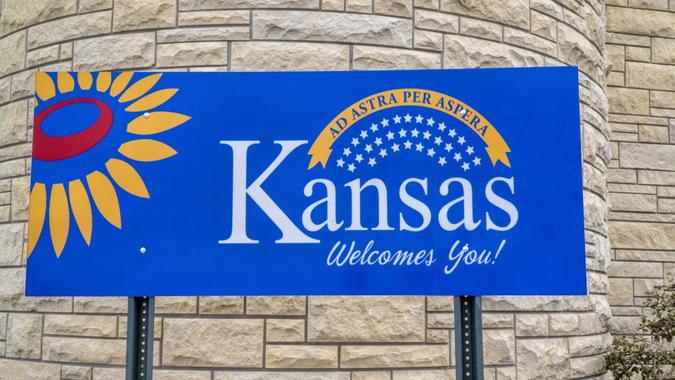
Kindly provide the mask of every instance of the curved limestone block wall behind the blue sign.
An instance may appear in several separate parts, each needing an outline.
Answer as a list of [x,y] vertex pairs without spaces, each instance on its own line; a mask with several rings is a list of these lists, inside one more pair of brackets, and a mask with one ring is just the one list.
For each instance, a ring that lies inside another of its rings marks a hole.
[[[604,3],[412,1],[0,0],[0,378],[100,380],[120,379],[123,373],[125,299],[23,296],[36,70],[541,65],[581,70],[590,295],[485,299],[485,374],[487,379],[601,376],[611,341]],[[666,25],[641,26],[672,37]],[[633,37],[610,36],[622,43]],[[656,51],[651,58],[664,59]],[[629,84],[635,75],[637,87],[670,83],[673,89],[666,66],[634,65]],[[645,74],[650,72],[660,77]],[[666,95],[659,99],[672,104]],[[651,101],[647,114],[665,112]],[[657,119],[630,121],[634,124],[625,128],[633,128],[637,140],[635,123],[649,124],[640,126],[641,134],[658,138],[663,128],[652,125],[663,125],[665,118]],[[645,173],[652,181],[673,180],[664,172]],[[659,194],[668,191],[672,194],[672,188],[659,188]],[[667,233],[654,231],[643,239]],[[651,274],[654,264],[645,265],[644,273]],[[623,267],[614,268],[619,273]],[[454,378],[451,297],[162,297],[157,313],[158,379]]]

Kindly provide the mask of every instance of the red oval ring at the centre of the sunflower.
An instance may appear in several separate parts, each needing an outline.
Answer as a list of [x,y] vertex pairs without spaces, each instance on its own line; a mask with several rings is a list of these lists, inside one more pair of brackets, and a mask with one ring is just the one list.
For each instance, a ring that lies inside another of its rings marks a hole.
[[[49,136],[42,131],[42,122],[52,112],[77,103],[89,103],[98,107],[98,119],[86,129],[68,136]],[[107,104],[92,98],[74,98],[60,101],[35,115],[33,130],[33,157],[43,161],[65,160],[96,146],[112,126],[112,110]]]

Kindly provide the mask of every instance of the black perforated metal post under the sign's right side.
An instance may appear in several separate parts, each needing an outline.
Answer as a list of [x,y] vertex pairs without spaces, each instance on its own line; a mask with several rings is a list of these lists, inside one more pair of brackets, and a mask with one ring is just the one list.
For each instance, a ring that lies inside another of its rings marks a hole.
[[483,380],[483,322],[480,297],[455,297],[457,380]]

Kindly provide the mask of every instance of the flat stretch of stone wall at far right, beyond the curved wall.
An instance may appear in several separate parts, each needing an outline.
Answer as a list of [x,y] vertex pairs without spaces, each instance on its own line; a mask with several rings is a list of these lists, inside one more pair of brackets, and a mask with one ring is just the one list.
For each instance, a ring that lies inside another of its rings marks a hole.
[[675,277],[675,1],[608,1],[607,32],[611,330],[632,335]]

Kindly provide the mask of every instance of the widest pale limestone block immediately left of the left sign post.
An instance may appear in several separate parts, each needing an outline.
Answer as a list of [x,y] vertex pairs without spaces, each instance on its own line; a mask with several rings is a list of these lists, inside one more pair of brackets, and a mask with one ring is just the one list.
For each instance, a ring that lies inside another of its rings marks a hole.
[[66,363],[124,364],[123,339],[44,337],[42,359]]

